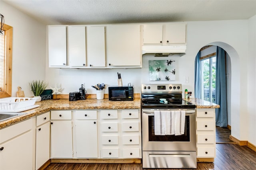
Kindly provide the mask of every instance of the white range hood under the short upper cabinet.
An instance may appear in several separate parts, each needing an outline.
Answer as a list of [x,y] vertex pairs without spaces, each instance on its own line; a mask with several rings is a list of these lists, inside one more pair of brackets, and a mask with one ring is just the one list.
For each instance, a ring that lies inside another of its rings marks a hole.
[[[155,57],[167,57],[168,55],[185,55],[186,45],[143,45],[142,55],[158,54]],[[162,55],[161,55],[162,54]],[[166,56],[167,55],[167,56]]]

